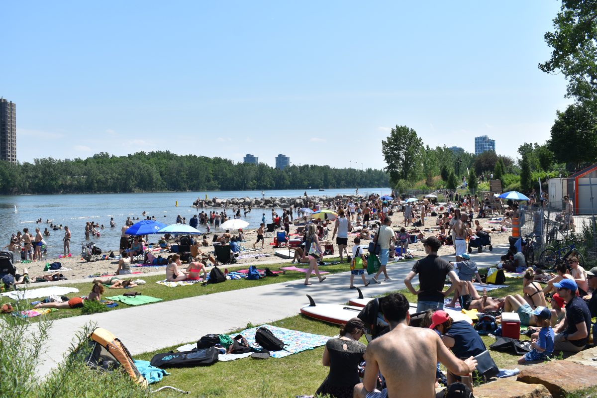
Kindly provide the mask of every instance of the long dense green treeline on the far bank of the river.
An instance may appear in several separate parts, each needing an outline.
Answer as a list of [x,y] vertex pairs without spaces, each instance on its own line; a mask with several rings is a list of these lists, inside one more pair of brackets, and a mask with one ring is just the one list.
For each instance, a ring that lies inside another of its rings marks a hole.
[[164,192],[204,190],[332,189],[387,187],[386,172],[376,169],[290,166],[275,169],[206,156],[138,152],[128,156],[98,153],[91,158],[0,161],[0,194]]

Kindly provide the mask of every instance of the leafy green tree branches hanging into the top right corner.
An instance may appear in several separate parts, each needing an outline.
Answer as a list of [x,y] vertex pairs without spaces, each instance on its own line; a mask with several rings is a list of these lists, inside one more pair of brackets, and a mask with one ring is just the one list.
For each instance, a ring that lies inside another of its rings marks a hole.
[[567,97],[597,110],[597,0],[562,0],[553,20],[554,32],[545,33],[553,48],[549,61],[539,64],[546,73],[562,72],[568,80]]

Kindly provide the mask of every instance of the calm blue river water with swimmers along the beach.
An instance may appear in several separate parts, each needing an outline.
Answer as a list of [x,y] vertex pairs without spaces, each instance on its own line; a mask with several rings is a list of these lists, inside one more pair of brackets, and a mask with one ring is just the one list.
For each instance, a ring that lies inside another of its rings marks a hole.
[[[266,198],[272,196],[279,198],[297,198],[303,196],[305,190],[272,190],[264,192]],[[318,190],[306,190],[307,195],[312,196],[336,196],[338,194],[352,195],[355,189],[329,189],[323,192]],[[378,193],[386,195],[390,193],[389,188],[359,188],[359,195]],[[70,250],[78,253],[81,243],[93,241],[102,250],[118,248],[120,229],[127,217],[139,217],[143,211],[147,215],[155,215],[157,221],[170,225],[176,223],[177,215],[189,218],[197,211],[192,203],[197,198],[261,198],[261,191],[217,191],[217,192],[160,192],[160,193],[97,193],[79,195],[19,195],[0,196],[0,249],[8,245],[10,236],[23,228],[28,228],[30,233],[35,235],[35,228],[39,227],[43,232],[45,228],[50,230],[50,236],[44,239],[48,243],[48,257],[57,257],[62,252],[62,238],[64,230],[52,230],[50,224],[45,221],[50,219],[55,224],[68,226],[72,237],[70,239]],[[178,201],[178,207],[176,202]],[[17,211],[15,212],[15,206]],[[209,212],[212,208],[199,209]],[[216,208],[223,211],[223,208]],[[228,215],[232,215],[232,208],[227,208]],[[266,213],[269,221],[270,209],[255,208],[242,217],[248,221],[248,229],[259,227],[261,215]],[[278,212],[280,214],[280,212]],[[110,217],[114,217],[116,227],[110,228]],[[42,219],[41,224],[36,220]],[[103,224],[105,229],[100,230],[99,237],[90,240],[85,239],[85,223]],[[204,231],[204,227],[198,228]],[[212,232],[214,230],[212,229]]]

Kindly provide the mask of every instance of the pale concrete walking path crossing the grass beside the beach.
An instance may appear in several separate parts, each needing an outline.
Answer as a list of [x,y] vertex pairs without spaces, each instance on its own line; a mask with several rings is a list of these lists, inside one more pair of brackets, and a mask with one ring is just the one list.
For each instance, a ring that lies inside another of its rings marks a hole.
[[[500,260],[504,252],[506,246],[495,247],[492,252],[475,252],[472,259],[478,263],[479,268],[490,267]],[[444,258],[454,261],[453,255]],[[413,261],[390,263],[387,272],[392,280],[378,285],[372,283],[367,288],[362,288],[363,294],[371,297],[404,288],[404,277],[413,264]],[[321,267],[321,270],[325,270],[325,267]],[[313,284],[310,286],[305,286],[303,279],[297,279],[54,320],[46,344],[48,349],[42,356],[44,363],[39,365],[38,374],[45,375],[56,368],[76,332],[90,322],[116,335],[135,356],[172,345],[195,342],[205,334],[242,329],[249,322],[260,325],[297,315],[302,306],[309,304],[306,294],[311,295],[316,303],[328,304],[344,304],[356,297],[356,290],[349,289],[349,272],[325,276],[322,283],[312,276],[310,281]],[[383,279],[383,274],[381,278]],[[355,286],[362,286],[360,277],[355,277]],[[201,289],[201,286],[197,288]]]

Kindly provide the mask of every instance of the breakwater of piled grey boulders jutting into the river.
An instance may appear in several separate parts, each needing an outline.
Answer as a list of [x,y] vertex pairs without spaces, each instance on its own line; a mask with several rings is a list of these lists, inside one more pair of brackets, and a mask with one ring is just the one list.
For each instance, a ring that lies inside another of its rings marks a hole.
[[233,207],[233,206],[251,206],[251,208],[289,208],[294,207],[307,207],[313,205],[329,206],[330,203],[337,200],[347,202],[349,200],[361,200],[361,196],[355,195],[336,195],[336,196],[300,196],[298,198],[287,198],[281,196],[280,198],[217,198],[214,196],[212,199],[207,200],[196,200],[193,202],[193,206],[198,208],[213,208],[213,207]]

